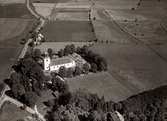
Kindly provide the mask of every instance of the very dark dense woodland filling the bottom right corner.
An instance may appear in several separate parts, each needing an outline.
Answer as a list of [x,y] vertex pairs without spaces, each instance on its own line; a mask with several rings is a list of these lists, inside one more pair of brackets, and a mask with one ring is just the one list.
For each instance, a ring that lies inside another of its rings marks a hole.
[[130,97],[122,103],[127,121],[165,121],[167,119],[167,86]]

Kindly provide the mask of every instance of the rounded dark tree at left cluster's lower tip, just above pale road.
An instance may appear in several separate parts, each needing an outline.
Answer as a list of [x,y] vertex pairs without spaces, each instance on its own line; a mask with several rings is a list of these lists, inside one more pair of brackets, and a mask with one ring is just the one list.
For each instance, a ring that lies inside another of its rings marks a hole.
[[24,102],[26,105],[34,107],[37,102],[37,99],[38,96],[34,92],[30,91],[25,93]]

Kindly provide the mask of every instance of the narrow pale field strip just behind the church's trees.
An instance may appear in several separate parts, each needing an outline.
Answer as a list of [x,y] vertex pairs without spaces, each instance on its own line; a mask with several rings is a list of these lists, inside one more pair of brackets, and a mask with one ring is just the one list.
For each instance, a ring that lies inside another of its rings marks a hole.
[[91,42],[44,42],[35,48],[40,49],[42,53],[47,52],[48,48],[51,48],[54,52],[58,52],[60,49],[64,49],[66,45],[74,44],[75,47],[82,47],[84,45],[90,45]]

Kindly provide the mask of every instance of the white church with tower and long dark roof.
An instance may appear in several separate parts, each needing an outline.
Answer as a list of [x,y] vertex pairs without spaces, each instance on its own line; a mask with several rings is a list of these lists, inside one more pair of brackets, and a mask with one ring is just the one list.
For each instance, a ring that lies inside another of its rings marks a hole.
[[68,56],[56,59],[50,59],[50,57],[44,58],[44,70],[58,72],[59,68],[64,66],[65,68],[75,68],[76,63]]

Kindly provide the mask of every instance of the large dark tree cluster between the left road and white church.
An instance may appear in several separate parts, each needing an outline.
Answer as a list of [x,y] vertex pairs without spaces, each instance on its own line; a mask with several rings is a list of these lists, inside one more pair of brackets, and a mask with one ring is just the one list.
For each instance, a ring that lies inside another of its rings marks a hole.
[[[34,50],[14,66],[8,85],[11,87],[11,96],[22,101],[28,106],[34,106],[37,96],[41,95],[44,88],[45,75],[38,59],[41,57],[39,50]],[[33,97],[33,98],[32,98]]]

